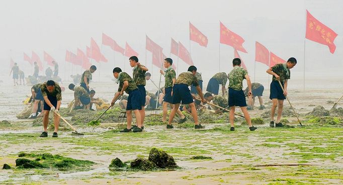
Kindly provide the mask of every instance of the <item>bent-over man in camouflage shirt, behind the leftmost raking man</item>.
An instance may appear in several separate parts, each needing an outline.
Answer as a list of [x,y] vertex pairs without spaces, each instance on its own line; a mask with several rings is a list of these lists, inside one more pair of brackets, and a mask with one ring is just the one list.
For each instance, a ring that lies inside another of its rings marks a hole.
[[91,103],[91,97],[81,86],[76,86],[73,83],[70,83],[68,88],[74,91],[74,108],[89,109]]

